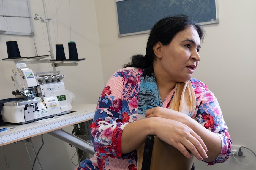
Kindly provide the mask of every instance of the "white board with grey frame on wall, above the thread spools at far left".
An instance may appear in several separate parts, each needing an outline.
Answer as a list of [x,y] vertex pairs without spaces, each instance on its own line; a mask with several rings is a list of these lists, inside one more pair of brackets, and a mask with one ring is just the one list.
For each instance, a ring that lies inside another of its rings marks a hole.
[[34,36],[29,0],[1,0],[0,15],[20,16],[3,17],[0,16],[0,30],[3,34],[29,35]]

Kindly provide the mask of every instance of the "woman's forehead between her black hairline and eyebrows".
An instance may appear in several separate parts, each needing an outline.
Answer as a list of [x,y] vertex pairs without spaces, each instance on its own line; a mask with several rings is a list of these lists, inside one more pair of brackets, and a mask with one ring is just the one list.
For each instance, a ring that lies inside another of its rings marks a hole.
[[200,45],[200,38],[195,27],[187,27],[185,30],[178,32],[172,41],[185,41],[185,40],[193,40],[197,45]]

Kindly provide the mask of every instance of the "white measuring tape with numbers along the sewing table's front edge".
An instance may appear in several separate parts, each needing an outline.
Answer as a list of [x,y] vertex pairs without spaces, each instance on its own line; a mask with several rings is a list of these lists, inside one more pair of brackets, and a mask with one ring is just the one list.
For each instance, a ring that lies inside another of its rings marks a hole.
[[81,120],[93,118],[94,114],[95,114],[95,112],[90,112],[87,114],[60,120],[58,122],[44,124],[42,126],[33,127],[33,128],[26,129],[26,130],[21,130],[19,132],[14,132],[12,134],[0,135],[1,136],[0,145],[3,145],[4,143],[8,143],[11,141],[18,141],[19,139],[24,139],[26,137],[30,137],[31,135],[36,135],[36,134],[39,134],[42,132],[49,131],[51,129],[57,129],[58,127],[63,127],[63,126],[69,125],[69,124],[80,122]]

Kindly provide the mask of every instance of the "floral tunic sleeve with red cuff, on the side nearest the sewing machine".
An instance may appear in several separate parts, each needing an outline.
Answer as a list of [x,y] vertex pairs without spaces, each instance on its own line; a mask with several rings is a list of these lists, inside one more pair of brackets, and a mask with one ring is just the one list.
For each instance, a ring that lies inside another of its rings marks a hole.
[[121,69],[107,82],[99,97],[90,125],[94,149],[111,157],[122,157],[121,136],[129,122],[136,121],[138,80],[142,70]]

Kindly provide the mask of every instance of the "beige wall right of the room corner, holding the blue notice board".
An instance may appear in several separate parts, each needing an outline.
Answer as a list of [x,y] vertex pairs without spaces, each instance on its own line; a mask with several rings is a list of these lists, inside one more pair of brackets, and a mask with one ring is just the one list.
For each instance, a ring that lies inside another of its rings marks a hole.
[[[208,85],[222,108],[233,145],[256,152],[256,1],[219,0],[219,24],[205,25],[206,38],[194,78]],[[109,77],[133,54],[144,54],[147,34],[118,38],[114,0],[95,0],[103,77]],[[247,151],[242,163],[255,159]],[[225,163],[207,166],[196,161],[196,169],[255,169],[256,163],[241,165],[230,157]]]

